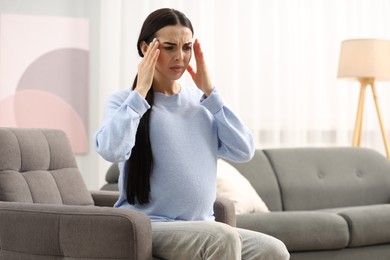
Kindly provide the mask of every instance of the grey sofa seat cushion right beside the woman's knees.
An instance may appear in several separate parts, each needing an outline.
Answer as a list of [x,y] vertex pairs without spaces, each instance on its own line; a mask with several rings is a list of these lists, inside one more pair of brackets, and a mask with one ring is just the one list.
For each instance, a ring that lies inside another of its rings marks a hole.
[[237,215],[237,227],[274,236],[291,251],[345,248],[348,224],[338,214],[321,211],[284,211]]

